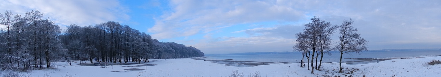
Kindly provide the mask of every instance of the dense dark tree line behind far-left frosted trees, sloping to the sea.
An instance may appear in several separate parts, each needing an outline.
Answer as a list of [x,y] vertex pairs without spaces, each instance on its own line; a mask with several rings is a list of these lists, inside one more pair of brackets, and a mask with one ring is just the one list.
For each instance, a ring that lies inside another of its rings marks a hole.
[[67,48],[67,57],[79,60],[93,59],[102,62],[127,63],[146,61],[151,58],[188,58],[204,56],[194,47],[174,42],[159,42],[118,22],[103,22],[90,26],[67,26],[60,35]]

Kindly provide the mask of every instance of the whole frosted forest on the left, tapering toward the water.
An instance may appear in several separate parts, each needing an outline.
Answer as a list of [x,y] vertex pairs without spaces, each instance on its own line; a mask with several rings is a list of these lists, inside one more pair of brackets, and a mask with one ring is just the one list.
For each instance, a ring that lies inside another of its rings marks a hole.
[[60,29],[39,11],[24,16],[11,11],[0,14],[0,68],[26,71],[52,68],[52,62],[94,60],[112,63],[148,61],[148,59],[201,57],[194,47],[160,42],[119,22]]

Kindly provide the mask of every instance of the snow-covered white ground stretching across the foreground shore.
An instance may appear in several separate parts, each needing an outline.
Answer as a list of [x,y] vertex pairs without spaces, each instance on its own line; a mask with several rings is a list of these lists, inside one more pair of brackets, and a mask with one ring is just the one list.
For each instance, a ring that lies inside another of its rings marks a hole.
[[[225,66],[224,64],[213,63],[194,59],[154,59],[156,61],[145,65],[119,65],[100,68],[98,66],[79,66],[79,62],[73,62],[73,66],[58,66],[58,69],[33,70],[30,73],[33,77],[43,77],[49,74],[50,77],[62,77],[66,74],[75,77],[225,77],[238,70],[244,73],[245,77],[250,73],[259,72],[262,77],[438,77],[441,76],[441,64],[428,65],[433,60],[441,60],[441,56],[426,56],[423,58],[391,59],[380,63],[367,63],[357,65],[342,64],[344,73],[338,73],[338,63],[324,63],[320,71],[315,70],[311,74],[307,68],[299,67],[299,63],[279,63],[253,67]],[[60,65],[60,64],[59,64]],[[130,67],[127,67],[130,66]],[[147,69],[146,69],[147,67]],[[146,70],[124,70],[124,69],[146,69]],[[351,73],[351,71],[354,71]],[[349,73],[349,74],[347,74]]]

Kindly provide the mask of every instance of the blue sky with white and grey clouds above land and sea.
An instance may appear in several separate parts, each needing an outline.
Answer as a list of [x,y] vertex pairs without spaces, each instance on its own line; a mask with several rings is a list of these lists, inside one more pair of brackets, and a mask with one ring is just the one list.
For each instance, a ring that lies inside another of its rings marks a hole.
[[351,19],[368,50],[441,48],[441,0],[0,0],[6,10],[38,10],[62,29],[115,21],[205,54],[294,51],[314,16]]

